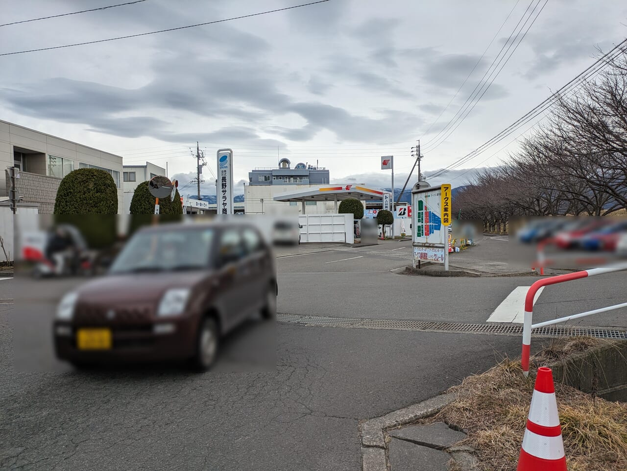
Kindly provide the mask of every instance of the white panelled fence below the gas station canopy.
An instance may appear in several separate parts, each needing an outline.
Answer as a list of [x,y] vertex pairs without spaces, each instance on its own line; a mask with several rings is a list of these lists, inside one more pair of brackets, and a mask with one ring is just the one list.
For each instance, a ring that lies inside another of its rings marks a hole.
[[298,223],[301,242],[355,242],[352,214],[303,214]]

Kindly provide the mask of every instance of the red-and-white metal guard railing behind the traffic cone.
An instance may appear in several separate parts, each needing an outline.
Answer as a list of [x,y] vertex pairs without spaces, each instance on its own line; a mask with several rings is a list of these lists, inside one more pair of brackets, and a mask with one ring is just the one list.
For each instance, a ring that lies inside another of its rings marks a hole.
[[581,312],[579,314],[567,315],[566,317],[559,317],[559,319],[547,320],[545,322],[539,322],[538,324],[532,324],[534,315],[534,300],[538,290],[544,286],[556,285],[557,283],[564,283],[573,280],[581,280],[582,278],[594,277],[596,275],[604,275],[605,273],[621,272],[627,270],[627,263],[619,263],[603,268],[591,268],[590,270],[582,270],[581,272],[566,273],[565,275],[557,275],[556,277],[544,278],[535,282],[527,291],[525,297],[525,317],[523,320],[522,329],[522,372],[525,376],[529,376],[529,356],[531,350],[531,331],[539,327],[545,327],[546,325],[558,324],[559,322],[566,322],[567,320],[579,319],[580,317],[586,317],[588,315],[600,314],[601,312],[608,312],[609,310],[621,309],[627,307],[627,302],[616,304],[613,306],[602,307],[601,309],[589,310]]

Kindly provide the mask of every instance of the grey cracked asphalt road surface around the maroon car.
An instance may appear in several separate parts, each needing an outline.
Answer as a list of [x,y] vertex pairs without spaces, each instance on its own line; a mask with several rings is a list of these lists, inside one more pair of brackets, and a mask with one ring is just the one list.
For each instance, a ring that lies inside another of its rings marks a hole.
[[[278,310],[485,322],[512,289],[537,279],[399,275],[390,270],[408,264],[405,246],[286,249],[278,254]],[[547,288],[538,319],[624,302],[621,276]],[[35,295],[45,320],[73,283],[0,281],[0,298]],[[359,470],[359,420],[429,398],[520,349],[519,337],[278,324],[276,371],[193,374],[156,365],[79,372],[51,358],[35,309],[22,327],[40,331],[33,355],[48,357],[50,369],[25,372],[14,363],[15,312],[0,304],[3,470]],[[613,316],[591,322],[625,324],[624,310]],[[222,363],[251,325],[227,339]]]

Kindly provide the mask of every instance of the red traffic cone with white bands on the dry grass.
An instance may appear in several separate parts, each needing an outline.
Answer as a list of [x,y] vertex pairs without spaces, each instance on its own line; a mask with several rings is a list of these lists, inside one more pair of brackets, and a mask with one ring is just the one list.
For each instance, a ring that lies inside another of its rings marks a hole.
[[566,471],[551,368],[538,369],[517,471]]

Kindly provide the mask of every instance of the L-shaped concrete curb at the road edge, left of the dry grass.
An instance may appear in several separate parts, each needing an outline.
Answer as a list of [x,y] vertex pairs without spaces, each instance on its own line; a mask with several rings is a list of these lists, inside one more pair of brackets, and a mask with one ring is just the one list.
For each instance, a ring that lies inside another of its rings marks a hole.
[[453,393],[440,394],[421,403],[362,422],[359,426],[362,471],[388,471],[385,434],[387,430],[435,415],[455,399],[456,395]]

